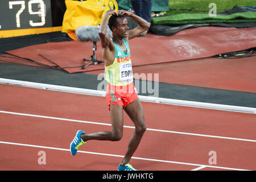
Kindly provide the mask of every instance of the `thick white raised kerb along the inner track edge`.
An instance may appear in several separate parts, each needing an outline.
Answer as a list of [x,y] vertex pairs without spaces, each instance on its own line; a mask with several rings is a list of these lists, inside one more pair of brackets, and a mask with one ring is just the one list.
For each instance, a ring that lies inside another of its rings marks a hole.
[[[69,92],[69,93],[77,93],[77,94],[86,94],[91,96],[100,96],[100,97],[106,96],[106,92],[101,90],[91,90],[91,89],[74,88],[69,86],[41,84],[38,82],[11,80],[6,78],[0,78],[0,84],[26,86],[30,88],[54,90],[59,92]],[[186,106],[186,107],[199,107],[204,109],[225,110],[225,111],[233,111],[233,112],[240,112],[240,113],[256,114],[256,108],[254,107],[212,104],[212,103],[206,103],[206,102],[184,101],[184,100],[175,100],[171,98],[160,98],[160,97],[150,97],[150,96],[139,96],[139,99],[144,102],[154,102],[158,104],[178,105],[178,106]]]

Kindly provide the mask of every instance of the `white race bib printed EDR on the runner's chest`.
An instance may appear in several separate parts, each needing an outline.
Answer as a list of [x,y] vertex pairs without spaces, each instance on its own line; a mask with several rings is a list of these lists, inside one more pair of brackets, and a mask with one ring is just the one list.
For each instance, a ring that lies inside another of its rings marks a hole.
[[133,68],[131,67],[131,63],[119,64],[119,77],[122,84],[133,81]]

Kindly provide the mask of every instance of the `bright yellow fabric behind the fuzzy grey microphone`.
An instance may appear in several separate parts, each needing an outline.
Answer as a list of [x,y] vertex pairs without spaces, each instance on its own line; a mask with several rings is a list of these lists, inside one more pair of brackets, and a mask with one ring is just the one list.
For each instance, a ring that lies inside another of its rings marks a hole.
[[87,1],[65,1],[67,10],[63,17],[62,32],[69,33],[82,26],[97,26],[101,24],[106,11],[110,7],[118,11],[115,0],[87,0]]

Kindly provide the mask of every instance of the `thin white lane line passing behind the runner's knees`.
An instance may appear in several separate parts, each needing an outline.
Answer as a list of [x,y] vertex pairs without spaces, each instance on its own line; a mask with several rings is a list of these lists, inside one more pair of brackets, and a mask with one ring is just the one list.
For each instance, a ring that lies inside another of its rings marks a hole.
[[[109,124],[109,123],[100,123],[100,122],[92,122],[92,121],[81,121],[81,120],[77,120],[77,119],[57,118],[57,117],[49,117],[49,116],[35,115],[35,114],[15,113],[15,112],[10,112],[10,111],[3,111],[3,110],[0,110],[0,113],[14,114],[14,115],[24,115],[24,116],[27,116],[27,117],[36,117],[36,118],[55,119],[55,120],[60,120],[60,121],[71,121],[71,122],[89,123],[89,124],[94,124],[94,125],[111,126],[111,124]],[[130,129],[135,129],[134,126],[123,126],[123,127],[130,128]],[[216,136],[216,135],[204,135],[204,134],[195,134],[195,133],[185,133],[185,132],[180,132],[180,131],[158,130],[158,129],[147,129],[147,130],[148,131],[159,131],[159,132],[164,132],[164,133],[175,133],[175,134],[183,134],[183,135],[193,135],[193,136],[198,136],[198,137],[221,138],[221,139],[230,139],[230,140],[241,140],[241,141],[245,141],[245,142],[256,142],[256,140],[251,140],[251,139],[232,138],[232,137],[220,137],[220,136]]]

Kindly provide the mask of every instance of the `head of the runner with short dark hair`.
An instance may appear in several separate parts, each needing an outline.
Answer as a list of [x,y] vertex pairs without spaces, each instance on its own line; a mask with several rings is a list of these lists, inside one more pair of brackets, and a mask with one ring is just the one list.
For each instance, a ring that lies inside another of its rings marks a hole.
[[128,37],[129,27],[127,26],[128,22],[125,16],[123,15],[112,15],[109,18],[109,28],[112,30],[112,34],[117,34],[123,38]]

